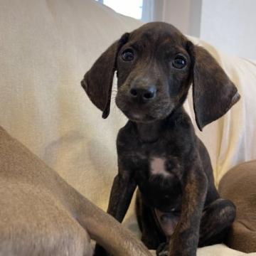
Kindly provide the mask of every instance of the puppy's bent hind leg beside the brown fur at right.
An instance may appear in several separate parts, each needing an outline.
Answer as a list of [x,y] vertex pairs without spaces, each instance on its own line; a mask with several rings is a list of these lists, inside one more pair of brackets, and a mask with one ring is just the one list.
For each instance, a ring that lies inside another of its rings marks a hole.
[[225,242],[234,220],[235,205],[231,201],[218,198],[210,203],[203,210],[198,247]]

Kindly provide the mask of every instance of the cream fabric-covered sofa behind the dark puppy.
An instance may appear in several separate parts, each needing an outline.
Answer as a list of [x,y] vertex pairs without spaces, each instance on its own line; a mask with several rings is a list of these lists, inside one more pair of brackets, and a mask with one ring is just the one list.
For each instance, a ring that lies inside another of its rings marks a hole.
[[[0,3],[0,125],[104,210],[117,174],[117,132],[127,119],[114,97],[110,117],[102,119],[80,80],[113,41],[141,25],[95,0]],[[256,159],[256,62],[191,40],[218,60],[242,96],[203,132],[195,125],[218,185],[235,164]],[[196,124],[191,95],[185,108]],[[139,238],[134,199],[124,225]],[[198,255],[243,253],[213,245],[199,249]]]

